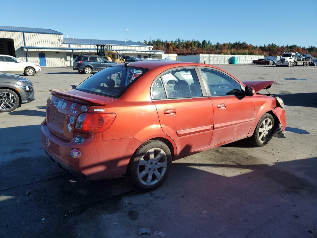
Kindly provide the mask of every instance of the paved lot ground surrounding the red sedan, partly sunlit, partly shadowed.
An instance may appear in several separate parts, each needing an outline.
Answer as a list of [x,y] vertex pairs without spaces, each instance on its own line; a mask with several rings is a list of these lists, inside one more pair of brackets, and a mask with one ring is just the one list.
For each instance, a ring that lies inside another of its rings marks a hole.
[[52,162],[40,143],[47,89],[87,75],[42,68],[29,77],[36,100],[0,114],[0,237],[316,237],[317,67],[219,67],[275,81],[269,91],[286,104],[287,138],[177,160],[150,193],[123,178],[84,181]]

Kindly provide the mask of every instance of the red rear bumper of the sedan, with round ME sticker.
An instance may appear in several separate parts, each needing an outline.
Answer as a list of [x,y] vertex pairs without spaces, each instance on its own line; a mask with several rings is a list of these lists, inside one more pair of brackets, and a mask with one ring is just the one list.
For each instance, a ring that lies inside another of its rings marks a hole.
[[[140,145],[135,138],[104,141],[102,133],[81,136],[85,139],[82,144],[76,144],[74,138],[66,141],[52,134],[45,120],[41,124],[45,152],[73,175],[89,180],[124,176],[131,156]],[[74,149],[81,153],[77,158],[71,154]]]

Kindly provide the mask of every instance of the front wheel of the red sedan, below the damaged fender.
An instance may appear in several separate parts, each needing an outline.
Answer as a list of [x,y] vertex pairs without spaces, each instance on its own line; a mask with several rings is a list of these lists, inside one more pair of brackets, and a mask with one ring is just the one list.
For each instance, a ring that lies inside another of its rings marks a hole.
[[253,135],[250,137],[250,142],[256,147],[262,147],[268,144],[272,139],[274,129],[274,119],[271,114],[265,113],[254,130]]

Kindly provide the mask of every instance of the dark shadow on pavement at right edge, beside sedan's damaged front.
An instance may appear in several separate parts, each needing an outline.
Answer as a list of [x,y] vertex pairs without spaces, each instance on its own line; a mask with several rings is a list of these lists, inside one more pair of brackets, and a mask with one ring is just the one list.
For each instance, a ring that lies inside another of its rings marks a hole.
[[298,107],[317,107],[317,93],[274,94],[280,97],[285,105]]

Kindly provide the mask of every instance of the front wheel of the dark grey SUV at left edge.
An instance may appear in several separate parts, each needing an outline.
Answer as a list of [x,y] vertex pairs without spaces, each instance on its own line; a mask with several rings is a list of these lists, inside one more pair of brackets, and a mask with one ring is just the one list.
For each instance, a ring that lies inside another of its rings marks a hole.
[[0,112],[11,112],[20,104],[18,95],[10,89],[0,89]]

